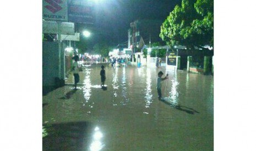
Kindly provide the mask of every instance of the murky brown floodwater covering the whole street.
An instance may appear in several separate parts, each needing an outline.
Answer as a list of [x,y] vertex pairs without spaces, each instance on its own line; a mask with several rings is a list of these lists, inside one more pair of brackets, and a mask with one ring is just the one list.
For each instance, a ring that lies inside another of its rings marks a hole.
[[[43,96],[43,150],[213,150],[214,78],[155,67],[100,66]],[[157,98],[156,78],[162,81]]]

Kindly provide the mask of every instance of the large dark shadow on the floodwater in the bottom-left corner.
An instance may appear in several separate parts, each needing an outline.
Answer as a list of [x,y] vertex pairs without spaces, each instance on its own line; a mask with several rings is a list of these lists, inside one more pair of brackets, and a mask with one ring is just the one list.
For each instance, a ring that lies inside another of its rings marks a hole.
[[93,127],[85,121],[43,125],[42,150],[89,150]]

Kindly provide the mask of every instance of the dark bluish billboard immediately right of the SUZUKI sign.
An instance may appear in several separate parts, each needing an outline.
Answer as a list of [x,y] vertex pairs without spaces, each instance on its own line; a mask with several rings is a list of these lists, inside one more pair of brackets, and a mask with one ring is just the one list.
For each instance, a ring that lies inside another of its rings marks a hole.
[[69,0],[68,20],[72,22],[83,22],[93,24],[93,1],[90,0]]

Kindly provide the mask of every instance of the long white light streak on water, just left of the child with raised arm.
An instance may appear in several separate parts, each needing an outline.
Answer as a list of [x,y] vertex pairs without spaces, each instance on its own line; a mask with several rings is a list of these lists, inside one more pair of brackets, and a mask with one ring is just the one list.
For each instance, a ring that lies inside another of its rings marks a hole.
[[152,90],[151,90],[151,72],[150,68],[146,68],[146,94],[145,94],[145,102],[146,108],[149,108],[150,104],[152,103]]

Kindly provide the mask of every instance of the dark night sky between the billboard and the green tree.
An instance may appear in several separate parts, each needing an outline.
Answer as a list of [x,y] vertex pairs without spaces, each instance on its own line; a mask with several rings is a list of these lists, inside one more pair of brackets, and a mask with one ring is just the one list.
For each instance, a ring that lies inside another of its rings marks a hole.
[[[130,22],[146,19],[162,23],[177,4],[181,4],[181,0],[99,0],[94,25],[77,24],[77,31],[88,29],[91,32],[89,49],[104,41],[112,46],[127,43]],[[160,26],[155,30],[160,31]],[[156,36],[159,39],[159,33]],[[149,39],[149,36],[143,38]]]

